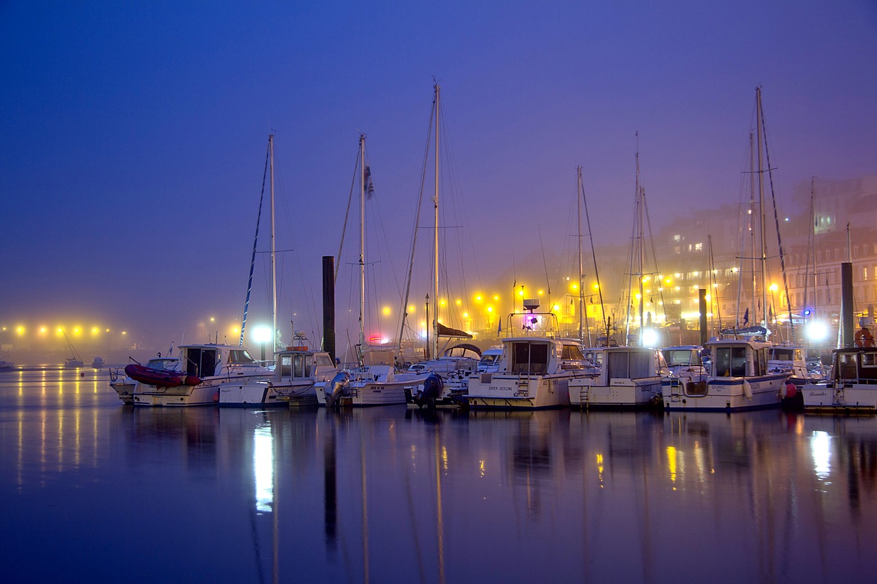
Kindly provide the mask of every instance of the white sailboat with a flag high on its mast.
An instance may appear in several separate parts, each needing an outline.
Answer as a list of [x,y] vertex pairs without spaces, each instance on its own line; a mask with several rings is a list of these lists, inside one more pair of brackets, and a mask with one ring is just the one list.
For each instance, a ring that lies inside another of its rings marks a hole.
[[390,351],[369,350],[366,345],[366,135],[360,134],[360,338],[357,363],[343,369],[331,381],[316,383],[317,402],[328,407],[394,405],[407,402],[422,374],[396,374]]

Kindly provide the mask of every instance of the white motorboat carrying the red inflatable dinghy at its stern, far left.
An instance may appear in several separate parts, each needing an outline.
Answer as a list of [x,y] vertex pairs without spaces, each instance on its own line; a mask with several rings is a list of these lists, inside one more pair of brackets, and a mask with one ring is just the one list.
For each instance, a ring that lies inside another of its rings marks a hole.
[[135,406],[212,405],[219,400],[219,388],[225,383],[246,383],[266,379],[274,372],[258,363],[246,347],[239,345],[181,345],[179,373],[196,385],[175,386],[137,381],[133,397]]

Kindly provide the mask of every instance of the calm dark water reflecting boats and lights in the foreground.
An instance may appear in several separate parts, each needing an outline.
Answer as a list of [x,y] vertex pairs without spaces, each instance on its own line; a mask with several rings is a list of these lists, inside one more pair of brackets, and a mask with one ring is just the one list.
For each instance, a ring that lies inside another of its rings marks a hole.
[[4,581],[877,580],[877,419],[137,409],[0,373]]

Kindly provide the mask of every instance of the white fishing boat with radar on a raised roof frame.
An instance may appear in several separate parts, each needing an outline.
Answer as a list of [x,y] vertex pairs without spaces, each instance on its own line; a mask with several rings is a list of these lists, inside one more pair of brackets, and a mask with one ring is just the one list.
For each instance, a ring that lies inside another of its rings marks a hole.
[[[495,372],[469,377],[466,401],[474,410],[538,410],[569,405],[569,384],[586,374],[582,345],[555,338],[557,315],[536,312],[538,299],[524,300],[525,313],[511,313]],[[517,333],[516,333],[517,334]]]

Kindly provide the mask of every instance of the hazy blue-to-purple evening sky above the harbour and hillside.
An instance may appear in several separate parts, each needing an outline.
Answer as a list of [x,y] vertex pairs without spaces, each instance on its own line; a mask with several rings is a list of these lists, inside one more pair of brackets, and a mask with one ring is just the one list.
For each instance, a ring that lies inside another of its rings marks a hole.
[[[595,246],[626,244],[637,150],[652,225],[736,203],[757,86],[781,201],[814,175],[877,174],[874,0],[7,0],[0,46],[0,324],[25,335],[94,323],[154,347],[202,341],[208,323],[223,340],[243,310],[270,133],[281,322],[294,312],[318,334],[360,132],[367,224],[385,239],[369,274],[398,297],[434,80],[443,217],[477,258],[467,293],[510,288],[543,268],[528,258],[570,245],[577,166]],[[356,310],[350,221],[339,313]],[[250,325],[266,315],[261,229]]]

